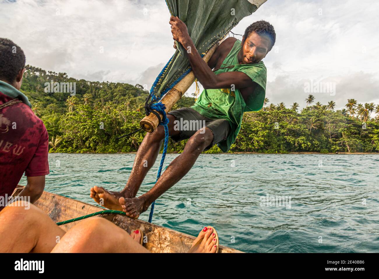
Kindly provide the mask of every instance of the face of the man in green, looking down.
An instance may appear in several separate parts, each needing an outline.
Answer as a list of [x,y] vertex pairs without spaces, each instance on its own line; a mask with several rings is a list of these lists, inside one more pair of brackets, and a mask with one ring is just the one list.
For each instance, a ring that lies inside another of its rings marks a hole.
[[[243,37],[242,40],[244,40]],[[241,64],[255,64],[260,62],[265,58],[267,52],[269,51],[271,41],[266,36],[260,36],[253,32],[250,34],[246,40],[241,43],[240,61]]]

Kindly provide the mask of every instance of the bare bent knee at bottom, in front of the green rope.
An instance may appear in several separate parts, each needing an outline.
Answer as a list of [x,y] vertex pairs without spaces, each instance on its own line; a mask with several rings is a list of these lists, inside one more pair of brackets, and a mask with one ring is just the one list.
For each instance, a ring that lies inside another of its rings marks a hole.
[[105,218],[93,217],[72,227],[52,253],[149,253],[140,239]]

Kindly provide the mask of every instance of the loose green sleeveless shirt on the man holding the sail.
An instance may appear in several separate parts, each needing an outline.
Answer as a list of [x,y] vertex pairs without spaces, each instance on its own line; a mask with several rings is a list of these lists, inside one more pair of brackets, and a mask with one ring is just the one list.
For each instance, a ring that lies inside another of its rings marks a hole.
[[195,104],[191,106],[192,109],[205,117],[228,120],[232,131],[229,133],[226,140],[217,144],[223,152],[227,152],[230,149],[238,132],[240,132],[243,113],[262,109],[266,95],[266,66],[263,64],[263,61],[255,64],[239,64],[237,54],[240,49],[241,41],[237,40],[223,61],[224,65],[221,65],[220,68],[229,65],[234,65],[234,67],[218,69],[215,71],[215,74],[232,71],[239,71],[247,74],[252,81],[258,84],[254,92],[249,95],[247,101],[244,101],[240,90],[238,89],[235,89],[235,91],[231,91],[231,88],[204,89],[199,95],[199,98],[197,98]]

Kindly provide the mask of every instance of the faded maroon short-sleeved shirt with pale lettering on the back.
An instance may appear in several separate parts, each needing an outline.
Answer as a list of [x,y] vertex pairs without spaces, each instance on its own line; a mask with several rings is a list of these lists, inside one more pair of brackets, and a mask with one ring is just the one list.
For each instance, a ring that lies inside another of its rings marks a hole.
[[[0,104],[11,99],[0,92]],[[19,102],[0,109],[0,199],[13,193],[24,172],[30,177],[49,174],[48,150],[45,125],[30,107]]]

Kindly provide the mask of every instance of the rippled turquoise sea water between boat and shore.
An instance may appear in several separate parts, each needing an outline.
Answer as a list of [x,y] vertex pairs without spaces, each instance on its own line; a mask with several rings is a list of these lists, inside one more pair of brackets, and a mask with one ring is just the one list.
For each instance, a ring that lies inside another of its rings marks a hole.
[[[97,205],[89,188],[124,188],[134,157],[49,154],[45,190]],[[160,158],[138,195],[154,185]],[[244,252],[379,252],[379,156],[201,154],[157,200],[153,223],[190,235],[212,225],[221,244]]]

